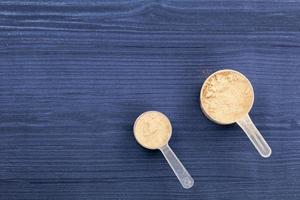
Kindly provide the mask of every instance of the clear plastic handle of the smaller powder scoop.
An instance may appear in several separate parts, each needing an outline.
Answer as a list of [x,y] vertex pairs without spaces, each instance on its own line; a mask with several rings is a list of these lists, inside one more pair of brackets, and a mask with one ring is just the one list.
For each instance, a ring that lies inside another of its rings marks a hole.
[[177,158],[175,153],[169,147],[168,144],[160,148],[161,152],[163,153],[164,157],[168,161],[170,167],[172,168],[173,172],[177,176],[179,182],[181,183],[182,187],[185,189],[189,189],[194,185],[194,179],[182,165],[180,160]]

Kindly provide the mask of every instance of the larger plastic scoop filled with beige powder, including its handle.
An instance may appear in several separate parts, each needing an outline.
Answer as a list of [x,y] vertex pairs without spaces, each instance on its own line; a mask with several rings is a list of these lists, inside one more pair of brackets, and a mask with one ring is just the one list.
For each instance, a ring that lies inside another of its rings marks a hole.
[[210,75],[200,92],[204,114],[218,124],[237,123],[246,133],[262,157],[272,150],[249,117],[254,102],[250,81],[240,72],[225,69]]

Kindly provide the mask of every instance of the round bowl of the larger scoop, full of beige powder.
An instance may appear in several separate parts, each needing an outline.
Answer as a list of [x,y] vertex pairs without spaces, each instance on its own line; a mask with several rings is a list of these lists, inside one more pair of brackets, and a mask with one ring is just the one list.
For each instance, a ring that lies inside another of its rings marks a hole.
[[230,124],[250,111],[254,93],[249,80],[233,70],[221,70],[204,82],[201,90],[204,113],[221,124]]

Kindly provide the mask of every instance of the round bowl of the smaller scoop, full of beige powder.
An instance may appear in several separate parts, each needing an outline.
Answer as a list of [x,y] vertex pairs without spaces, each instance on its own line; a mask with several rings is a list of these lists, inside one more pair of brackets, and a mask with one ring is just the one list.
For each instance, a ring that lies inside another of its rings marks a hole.
[[137,118],[133,132],[136,140],[143,147],[159,149],[168,143],[172,134],[172,126],[164,114],[149,111]]

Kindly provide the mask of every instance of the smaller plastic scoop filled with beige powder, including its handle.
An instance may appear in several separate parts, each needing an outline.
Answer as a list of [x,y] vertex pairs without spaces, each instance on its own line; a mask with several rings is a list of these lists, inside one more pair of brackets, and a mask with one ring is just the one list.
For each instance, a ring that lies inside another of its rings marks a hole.
[[157,111],[144,112],[136,119],[133,133],[141,146],[151,150],[159,149],[163,153],[182,187],[189,189],[194,185],[194,179],[168,145],[172,125],[167,116]]

